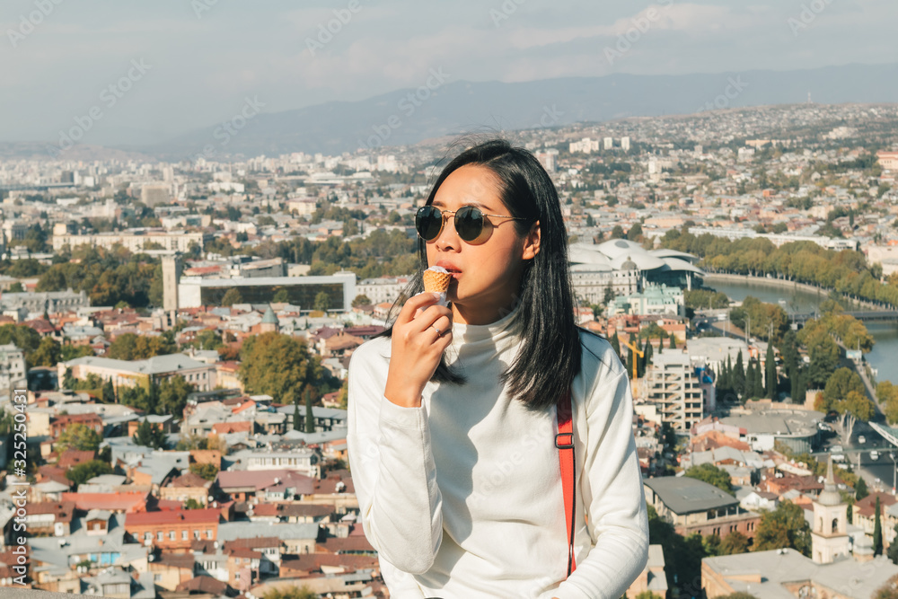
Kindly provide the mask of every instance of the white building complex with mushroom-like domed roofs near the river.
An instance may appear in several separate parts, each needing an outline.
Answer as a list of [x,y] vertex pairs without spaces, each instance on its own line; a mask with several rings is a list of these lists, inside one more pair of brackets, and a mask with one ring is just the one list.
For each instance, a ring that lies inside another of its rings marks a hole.
[[652,283],[691,289],[693,279],[705,274],[691,254],[646,250],[626,239],[572,243],[568,252],[574,292],[591,304],[604,303],[608,294],[638,293]]

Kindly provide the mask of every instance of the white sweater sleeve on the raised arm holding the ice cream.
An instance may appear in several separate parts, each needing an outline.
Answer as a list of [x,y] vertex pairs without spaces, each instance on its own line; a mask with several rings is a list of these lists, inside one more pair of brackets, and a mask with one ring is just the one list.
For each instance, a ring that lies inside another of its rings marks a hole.
[[359,348],[348,375],[347,445],[359,515],[381,559],[421,574],[433,565],[443,540],[443,499],[427,411],[383,396],[386,363],[373,354],[373,348]]

